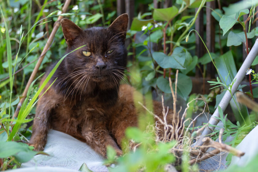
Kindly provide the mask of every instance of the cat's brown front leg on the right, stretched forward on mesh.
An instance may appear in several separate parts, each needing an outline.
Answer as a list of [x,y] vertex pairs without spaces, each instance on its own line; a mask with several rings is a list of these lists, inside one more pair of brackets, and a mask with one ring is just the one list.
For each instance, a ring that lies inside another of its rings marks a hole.
[[123,154],[123,151],[117,146],[115,140],[110,136],[104,122],[89,120],[82,127],[82,136],[86,143],[92,147],[97,153],[107,157],[108,145],[113,147],[118,156]]

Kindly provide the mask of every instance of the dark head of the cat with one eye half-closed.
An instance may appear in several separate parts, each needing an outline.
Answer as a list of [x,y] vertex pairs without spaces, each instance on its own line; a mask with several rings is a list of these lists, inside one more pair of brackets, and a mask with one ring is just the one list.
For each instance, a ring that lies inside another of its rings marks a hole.
[[65,58],[68,74],[74,73],[77,82],[87,80],[114,84],[119,83],[127,64],[125,37],[128,15],[122,14],[108,27],[82,30],[68,19],[61,20],[67,52],[86,45]]

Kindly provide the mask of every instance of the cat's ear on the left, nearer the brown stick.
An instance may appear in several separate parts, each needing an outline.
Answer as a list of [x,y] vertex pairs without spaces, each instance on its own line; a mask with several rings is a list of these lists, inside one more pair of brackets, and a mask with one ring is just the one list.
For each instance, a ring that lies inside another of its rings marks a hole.
[[71,20],[64,18],[60,21],[64,33],[65,41],[68,46],[72,46],[73,40],[78,37],[83,30]]

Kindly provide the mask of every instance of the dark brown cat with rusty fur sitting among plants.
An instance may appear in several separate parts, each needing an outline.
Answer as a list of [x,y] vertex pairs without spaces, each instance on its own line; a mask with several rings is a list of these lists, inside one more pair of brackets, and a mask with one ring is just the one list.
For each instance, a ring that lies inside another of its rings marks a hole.
[[[30,140],[36,151],[44,149],[53,128],[86,142],[103,156],[108,145],[118,155],[123,153],[125,129],[137,126],[134,89],[119,86],[127,64],[127,23],[127,14],[122,14],[108,28],[82,30],[68,19],[61,20],[67,53],[87,46],[65,57],[49,83],[57,80],[37,103]],[[155,104],[154,112],[161,115],[161,104]]]

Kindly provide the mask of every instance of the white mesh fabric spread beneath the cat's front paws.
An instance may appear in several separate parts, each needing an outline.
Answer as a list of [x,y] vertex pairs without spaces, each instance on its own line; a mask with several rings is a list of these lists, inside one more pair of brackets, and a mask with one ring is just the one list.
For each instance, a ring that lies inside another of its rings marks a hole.
[[94,172],[108,171],[108,168],[102,165],[104,158],[101,155],[86,143],[60,131],[49,130],[44,152],[50,156],[36,155],[29,162],[22,163],[22,168],[51,166],[79,170],[81,165],[86,163]]

